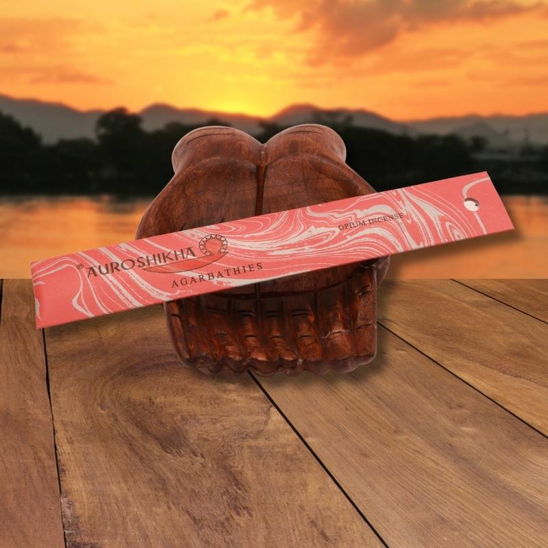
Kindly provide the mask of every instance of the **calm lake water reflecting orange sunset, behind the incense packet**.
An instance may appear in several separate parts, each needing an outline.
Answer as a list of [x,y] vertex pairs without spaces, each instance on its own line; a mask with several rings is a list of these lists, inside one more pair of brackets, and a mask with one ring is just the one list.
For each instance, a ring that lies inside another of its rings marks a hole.
[[[30,277],[32,260],[132,240],[148,200],[112,197],[0,199],[0,277]],[[546,277],[548,199],[504,199],[515,232],[495,234],[392,258],[388,275]]]

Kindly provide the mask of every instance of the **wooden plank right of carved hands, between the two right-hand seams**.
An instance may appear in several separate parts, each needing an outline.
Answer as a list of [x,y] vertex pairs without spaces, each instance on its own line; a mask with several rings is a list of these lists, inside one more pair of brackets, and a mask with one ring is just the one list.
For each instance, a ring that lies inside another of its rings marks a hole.
[[546,323],[447,279],[387,280],[383,295],[379,323],[548,434]]

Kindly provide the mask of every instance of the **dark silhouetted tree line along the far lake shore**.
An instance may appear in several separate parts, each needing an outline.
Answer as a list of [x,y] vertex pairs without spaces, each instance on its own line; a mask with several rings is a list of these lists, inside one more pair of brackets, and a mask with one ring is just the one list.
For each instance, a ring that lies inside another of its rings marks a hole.
[[[395,135],[355,126],[351,119],[318,122],[340,134],[347,164],[379,191],[474,171],[489,171],[501,193],[548,191],[548,146],[523,146],[512,155],[490,157],[482,138]],[[201,125],[228,124],[210,120]],[[98,119],[95,139],[47,144],[33,129],[0,112],[0,192],[154,196],[173,176],[173,147],[196,127],[169,123],[147,132],[138,115],[119,108]],[[282,129],[262,123],[255,137],[265,142]]]

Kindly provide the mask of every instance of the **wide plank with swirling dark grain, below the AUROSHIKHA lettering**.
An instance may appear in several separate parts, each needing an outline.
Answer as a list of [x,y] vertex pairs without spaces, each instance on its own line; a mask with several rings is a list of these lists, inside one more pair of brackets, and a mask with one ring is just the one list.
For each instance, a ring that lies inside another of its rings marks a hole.
[[45,332],[67,547],[385,548],[256,382],[180,366],[162,320]]

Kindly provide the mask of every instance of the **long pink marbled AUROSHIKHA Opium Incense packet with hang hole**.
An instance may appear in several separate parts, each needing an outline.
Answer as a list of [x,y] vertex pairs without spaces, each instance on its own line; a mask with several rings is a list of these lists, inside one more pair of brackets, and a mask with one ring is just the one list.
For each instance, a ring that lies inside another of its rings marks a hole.
[[36,327],[510,229],[475,173],[69,253],[31,264]]

